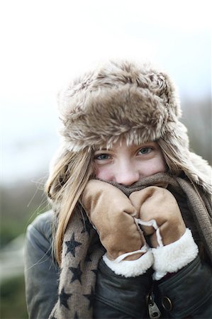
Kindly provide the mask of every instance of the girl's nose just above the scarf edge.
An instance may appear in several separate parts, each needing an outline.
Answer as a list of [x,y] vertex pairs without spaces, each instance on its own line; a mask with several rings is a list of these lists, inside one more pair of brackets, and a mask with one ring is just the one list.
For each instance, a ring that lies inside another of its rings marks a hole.
[[139,181],[140,174],[136,167],[133,167],[130,164],[122,164],[116,171],[115,179],[118,184],[130,186],[136,181]]

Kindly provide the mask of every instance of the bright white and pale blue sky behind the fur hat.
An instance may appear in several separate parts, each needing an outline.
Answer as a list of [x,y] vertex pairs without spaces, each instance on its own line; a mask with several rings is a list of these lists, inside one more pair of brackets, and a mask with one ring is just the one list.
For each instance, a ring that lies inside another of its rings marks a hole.
[[48,174],[57,91],[96,62],[153,60],[183,99],[211,94],[210,1],[4,0],[0,30],[2,183]]

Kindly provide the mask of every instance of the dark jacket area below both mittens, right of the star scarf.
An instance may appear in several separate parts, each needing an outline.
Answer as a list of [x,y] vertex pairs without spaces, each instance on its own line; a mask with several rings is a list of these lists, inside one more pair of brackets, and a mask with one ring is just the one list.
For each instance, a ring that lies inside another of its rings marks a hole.
[[[212,318],[212,272],[196,257],[170,278],[152,282],[150,272],[125,278],[101,260],[94,318]],[[194,293],[195,291],[195,293]],[[152,307],[147,296],[152,293]],[[154,315],[153,315],[154,314]]]

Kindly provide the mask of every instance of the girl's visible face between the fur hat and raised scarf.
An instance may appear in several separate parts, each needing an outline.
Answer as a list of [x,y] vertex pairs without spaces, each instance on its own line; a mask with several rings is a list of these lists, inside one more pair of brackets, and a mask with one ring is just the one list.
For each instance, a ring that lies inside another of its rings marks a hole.
[[157,142],[127,146],[116,142],[110,150],[94,153],[96,178],[130,186],[152,174],[165,172],[166,164]]

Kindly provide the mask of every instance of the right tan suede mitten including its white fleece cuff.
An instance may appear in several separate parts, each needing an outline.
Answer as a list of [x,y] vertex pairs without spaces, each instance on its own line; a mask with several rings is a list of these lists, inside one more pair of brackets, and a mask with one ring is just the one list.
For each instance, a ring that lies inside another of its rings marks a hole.
[[194,260],[198,247],[170,191],[149,186],[133,192],[129,199],[137,210],[138,223],[150,238],[155,269],[153,279],[177,272]]

